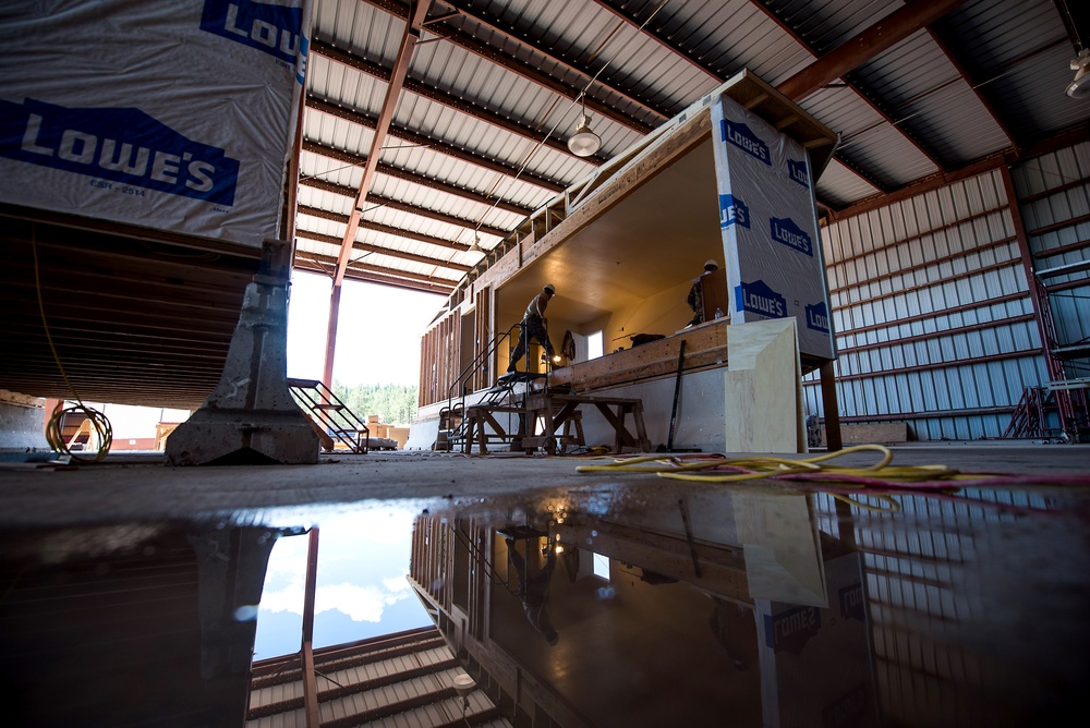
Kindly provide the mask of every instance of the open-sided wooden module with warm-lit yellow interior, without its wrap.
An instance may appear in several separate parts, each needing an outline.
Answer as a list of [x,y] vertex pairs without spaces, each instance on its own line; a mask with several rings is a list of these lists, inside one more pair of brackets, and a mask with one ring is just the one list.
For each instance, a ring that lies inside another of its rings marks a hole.
[[[603,395],[610,388],[676,376],[681,340],[688,342],[683,374],[727,367],[725,319],[681,330],[692,318],[686,303],[692,280],[708,258],[719,262],[720,270],[725,263],[711,112],[720,95],[801,144],[816,181],[832,157],[836,134],[753,74],[737,74],[568,187],[467,275],[451,294],[447,313],[425,335],[422,408],[445,399],[448,387],[460,389],[460,375],[450,364],[488,351],[493,344],[488,335],[514,326],[546,283],[556,287],[547,312],[555,347],[566,331],[601,336],[608,342],[601,359],[552,372],[550,389]],[[715,280],[725,287],[725,279]],[[726,301],[727,293],[715,291],[708,298]],[[462,321],[474,326],[474,336],[450,336]],[[613,342],[637,333],[667,338],[610,351]],[[474,351],[451,352],[448,345],[471,345]],[[833,435],[829,446],[837,448],[828,364],[801,363],[803,372],[822,372],[826,424]],[[500,348],[488,360],[487,371],[467,375],[465,388],[487,388],[506,365],[506,350]]]

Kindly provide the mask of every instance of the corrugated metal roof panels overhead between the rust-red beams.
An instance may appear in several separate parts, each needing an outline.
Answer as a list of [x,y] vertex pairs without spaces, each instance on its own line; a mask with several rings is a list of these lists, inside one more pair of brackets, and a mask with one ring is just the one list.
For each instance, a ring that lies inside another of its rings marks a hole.
[[[462,244],[485,226],[492,232],[482,243],[493,246],[497,233],[512,230],[522,216],[451,189],[532,209],[555,192],[531,175],[564,185],[585,177],[601,160],[576,158],[562,147],[582,111],[574,100],[582,89],[602,137],[598,156],[608,158],[642,136],[641,124],[655,126],[734,72],[748,68],[782,83],[880,20],[889,26],[891,14],[904,7],[896,0],[437,1],[392,110],[382,156],[387,172],[380,170],[368,191],[398,205],[368,207],[365,218]],[[308,94],[378,119],[408,12],[408,4],[395,0],[316,0],[318,52],[310,64]],[[327,51],[323,43],[336,49]],[[323,56],[343,51],[352,53],[342,59],[347,63]],[[863,58],[843,74],[846,84],[834,82],[802,101],[844,137],[838,160],[818,182],[819,203],[844,208],[1009,149],[1004,124],[1014,143],[1022,144],[1086,123],[1090,101],[1063,94],[1071,56],[1049,0],[977,0]],[[325,150],[303,153],[303,174],[356,189],[361,166],[315,157],[339,149],[362,163],[373,132],[317,108],[307,108],[305,118],[306,141]],[[435,139],[434,148],[397,138],[402,128]],[[546,134],[550,142],[542,144]],[[512,181],[510,172],[479,161],[485,159],[508,170],[524,168],[528,179]],[[391,169],[397,178],[389,177]],[[337,195],[304,186],[300,199],[347,216],[352,196],[335,201]],[[412,208],[422,214],[407,211]],[[342,225],[305,211],[299,220],[310,232],[343,234]],[[424,251],[421,243],[396,244],[396,233],[362,234],[395,256]],[[463,254],[448,259],[469,264]],[[440,277],[460,275],[447,269]]]

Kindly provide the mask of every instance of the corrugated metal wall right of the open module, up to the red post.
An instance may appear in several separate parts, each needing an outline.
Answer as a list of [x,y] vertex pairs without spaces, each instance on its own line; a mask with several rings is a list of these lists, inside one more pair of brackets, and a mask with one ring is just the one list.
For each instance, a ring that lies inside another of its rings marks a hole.
[[[1047,380],[1001,171],[834,222],[823,244],[846,424],[998,437]],[[806,385],[821,413],[816,376]]]

